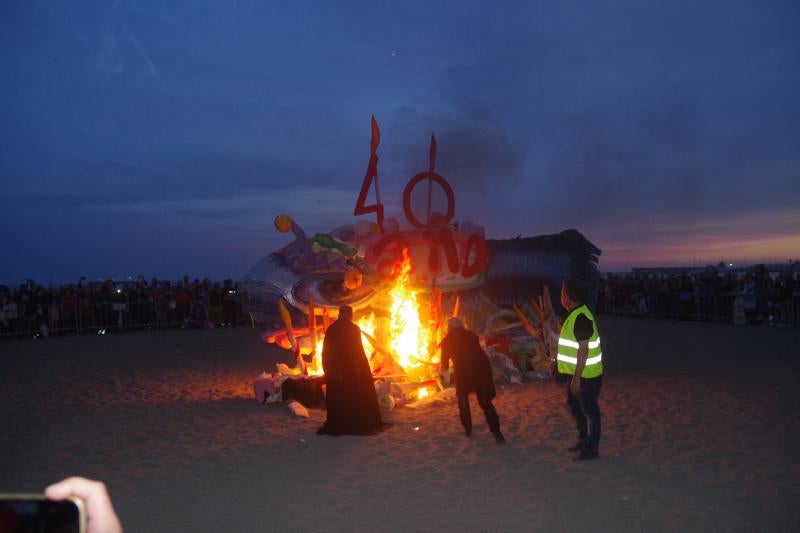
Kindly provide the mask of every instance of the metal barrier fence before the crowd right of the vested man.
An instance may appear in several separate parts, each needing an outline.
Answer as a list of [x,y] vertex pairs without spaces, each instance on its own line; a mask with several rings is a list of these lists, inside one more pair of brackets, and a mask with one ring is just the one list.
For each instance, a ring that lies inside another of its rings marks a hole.
[[800,327],[800,295],[772,302],[739,293],[613,294],[600,298],[599,312],[618,316]]

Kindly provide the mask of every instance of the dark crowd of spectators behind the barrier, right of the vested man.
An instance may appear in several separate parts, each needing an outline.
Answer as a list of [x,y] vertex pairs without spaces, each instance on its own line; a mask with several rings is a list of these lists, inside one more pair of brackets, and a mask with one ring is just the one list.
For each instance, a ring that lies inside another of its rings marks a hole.
[[598,311],[606,314],[800,326],[800,273],[715,269],[669,274],[608,274]]

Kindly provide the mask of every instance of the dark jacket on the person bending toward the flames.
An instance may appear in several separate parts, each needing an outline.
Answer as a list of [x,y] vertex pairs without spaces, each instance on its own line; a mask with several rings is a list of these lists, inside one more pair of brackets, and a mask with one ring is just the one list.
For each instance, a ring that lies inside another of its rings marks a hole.
[[442,368],[455,363],[456,395],[475,392],[491,400],[495,396],[492,365],[478,336],[468,329],[453,328],[442,339]]

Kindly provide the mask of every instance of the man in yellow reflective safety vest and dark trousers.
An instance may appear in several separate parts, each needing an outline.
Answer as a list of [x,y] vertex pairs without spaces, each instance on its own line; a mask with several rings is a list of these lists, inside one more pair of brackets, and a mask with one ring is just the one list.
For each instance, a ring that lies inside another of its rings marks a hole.
[[584,289],[574,280],[561,286],[561,305],[569,313],[558,338],[558,371],[569,374],[567,406],[578,426],[578,442],[569,448],[580,452],[576,461],[594,459],[599,453],[603,353],[594,315],[584,303]]

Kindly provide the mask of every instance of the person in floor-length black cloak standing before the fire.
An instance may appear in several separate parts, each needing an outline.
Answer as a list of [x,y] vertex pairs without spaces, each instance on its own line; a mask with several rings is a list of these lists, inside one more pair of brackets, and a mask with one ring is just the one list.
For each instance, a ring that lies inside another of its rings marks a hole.
[[372,435],[386,427],[361,343],[361,328],[352,319],[353,309],[343,305],[339,318],[325,332],[322,368],[328,416],[318,435]]

